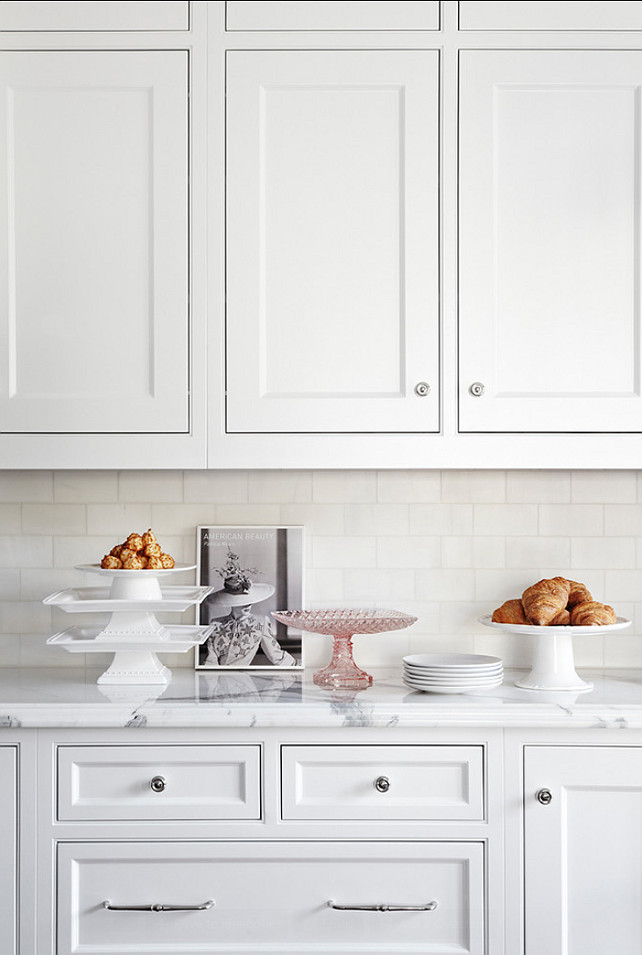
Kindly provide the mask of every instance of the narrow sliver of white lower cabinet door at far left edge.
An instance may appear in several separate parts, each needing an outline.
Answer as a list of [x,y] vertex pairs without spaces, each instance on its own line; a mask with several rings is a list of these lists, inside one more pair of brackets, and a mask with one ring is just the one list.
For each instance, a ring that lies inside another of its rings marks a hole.
[[0,746],[0,951],[18,952],[18,750]]

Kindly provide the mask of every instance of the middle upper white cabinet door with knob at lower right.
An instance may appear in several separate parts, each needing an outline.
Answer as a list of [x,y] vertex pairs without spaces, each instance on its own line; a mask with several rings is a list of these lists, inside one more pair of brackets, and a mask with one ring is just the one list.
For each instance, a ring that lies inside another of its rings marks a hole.
[[235,51],[227,82],[228,431],[437,430],[438,54]]

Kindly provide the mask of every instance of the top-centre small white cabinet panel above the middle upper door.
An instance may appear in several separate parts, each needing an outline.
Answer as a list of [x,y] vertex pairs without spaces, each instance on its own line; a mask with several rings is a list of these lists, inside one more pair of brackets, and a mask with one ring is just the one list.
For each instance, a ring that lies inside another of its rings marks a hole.
[[228,30],[438,30],[430,0],[228,0]]

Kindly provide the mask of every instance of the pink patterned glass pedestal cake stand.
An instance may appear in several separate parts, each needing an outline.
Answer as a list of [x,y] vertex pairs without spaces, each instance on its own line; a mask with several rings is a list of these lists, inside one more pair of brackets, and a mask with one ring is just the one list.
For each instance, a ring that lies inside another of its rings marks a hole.
[[326,633],[334,637],[332,660],[312,679],[317,686],[357,690],[371,686],[372,677],[354,662],[353,636],[403,630],[417,619],[400,610],[273,610],[272,616],[308,633]]

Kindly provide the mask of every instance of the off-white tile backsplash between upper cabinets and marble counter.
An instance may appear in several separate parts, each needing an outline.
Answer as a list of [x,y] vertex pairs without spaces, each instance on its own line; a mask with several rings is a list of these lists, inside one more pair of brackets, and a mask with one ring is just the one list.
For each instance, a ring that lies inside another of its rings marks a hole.
[[[634,471],[2,472],[0,665],[85,665],[45,641],[95,618],[51,611],[42,598],[86,584],[74,564],[99,561],[149,526],[191,562],[198,524],[304,525],[308,607],[390,607],[419,618],[406,631],[355,638],[362,664],[447,649],[526,663],[528,639],[496,636],[477,617],[562,574],[633,619],[622,633],[576,637],[577,664],[642,666],[642,472]],[[193,621],[189,612],[165,619]],[[329,638],[306,636],[306,665],[326,663],[329,648]],[[191,654],[165,659],[192,665]]]

